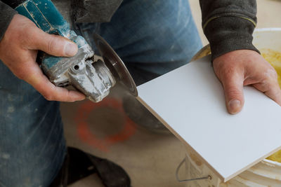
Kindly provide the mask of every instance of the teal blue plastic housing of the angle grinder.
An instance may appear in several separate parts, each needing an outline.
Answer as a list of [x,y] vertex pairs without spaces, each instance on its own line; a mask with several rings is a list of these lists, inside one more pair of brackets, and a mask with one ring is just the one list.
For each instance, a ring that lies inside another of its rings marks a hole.
[[[50,0],[27,0],[15,7],[20,15],[24,15],[34,22],[37,27],[48,34],[58,34],[77,43],[78,48],[88,45],[85,39],[77,36],[70,30],[70,24],[63,18],[58,9]],[[50,70],[58,62],[63,61],[64,57],[54,57],[44,55],[41,57],[41,67],[44,72]]]

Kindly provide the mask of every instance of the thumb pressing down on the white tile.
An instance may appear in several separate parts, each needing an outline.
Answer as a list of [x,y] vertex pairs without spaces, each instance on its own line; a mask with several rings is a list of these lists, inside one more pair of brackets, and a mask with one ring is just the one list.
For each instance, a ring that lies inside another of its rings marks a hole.
[[226,97],[226,107],[231,114],[238,113],[244,105],[243,83],[244,79],[239,75],[226,75],[221,79],[224,94]]

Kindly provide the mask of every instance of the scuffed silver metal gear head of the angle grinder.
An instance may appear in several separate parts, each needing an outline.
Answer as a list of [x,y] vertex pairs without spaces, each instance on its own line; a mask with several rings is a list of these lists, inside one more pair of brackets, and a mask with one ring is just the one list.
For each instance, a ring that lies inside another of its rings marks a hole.
[[[76,36],[73,32],[71,39],[79,47],[77,55],[74,57],[49,56],[45,58],[41,67],[55,85],[71,84],[91,101],[100,102],[115,85],[115,78],[103,61],[94,62],[93,50],[83,37]],[[53,64],[53,60],[58,62]]]

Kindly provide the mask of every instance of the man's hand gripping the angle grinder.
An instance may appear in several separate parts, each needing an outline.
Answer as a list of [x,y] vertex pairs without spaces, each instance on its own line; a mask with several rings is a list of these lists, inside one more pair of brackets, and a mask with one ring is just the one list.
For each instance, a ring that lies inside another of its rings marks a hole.
[[62,36],[46,34],[32,21],[15,15],[0,41],[0,59],[18,78],[30,83],[48,100],[74,102],[85,98],[74,90],[56,87],[35,62],[37,50],[61,57],[77,53],[77,45]]

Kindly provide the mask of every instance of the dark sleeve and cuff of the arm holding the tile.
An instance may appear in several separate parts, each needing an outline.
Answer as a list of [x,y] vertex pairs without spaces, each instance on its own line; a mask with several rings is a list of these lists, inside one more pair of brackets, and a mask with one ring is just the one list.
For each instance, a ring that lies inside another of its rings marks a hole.
[[253,44],[256,0],[200,0],[202,27],[212,60],[233,50],[257,50]]

